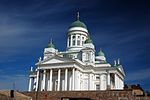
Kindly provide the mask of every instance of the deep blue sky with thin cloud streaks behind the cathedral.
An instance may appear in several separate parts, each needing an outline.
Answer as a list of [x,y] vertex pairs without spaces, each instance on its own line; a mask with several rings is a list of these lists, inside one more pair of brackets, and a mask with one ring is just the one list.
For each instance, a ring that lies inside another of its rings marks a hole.
[[0,0],[0,89],[27,90],[30,66],[53,38],[66,49],[67,30],[80,19],[108,62],[120,58],[125,83],[150,90],[148,0]]

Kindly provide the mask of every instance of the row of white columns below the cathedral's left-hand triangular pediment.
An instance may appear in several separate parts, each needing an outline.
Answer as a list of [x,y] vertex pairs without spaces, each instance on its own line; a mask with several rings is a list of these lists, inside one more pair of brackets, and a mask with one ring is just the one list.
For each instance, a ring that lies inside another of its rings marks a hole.
[[[54,80],[53,80],[53,75],[57,75],[54,77]],[[36,91],[38,87],[41,91],[67,91],[69,90],[68,85],[71,86],[71,90],[75,90],[75,79],[76,79],[75,68],[71,68],[71,70],[69,70],[69,68],[43,69],[42,71],[38,70],[37,77],[35,79],[36,79],[35,81],[37,82],[37,84],[35,84]],[[39,80],[39,83],[38,83],[38,80]],[[30,78],[29,80],[29,84],[30,83],[32,83],[32,78]],[[78,84],[76,85],[78,86]],[[56,90],[55,89],[53,90],[53,87],[55,87]],[[28,91],[31,91],[31,90],[32,90],[32,87],[29,87]]]

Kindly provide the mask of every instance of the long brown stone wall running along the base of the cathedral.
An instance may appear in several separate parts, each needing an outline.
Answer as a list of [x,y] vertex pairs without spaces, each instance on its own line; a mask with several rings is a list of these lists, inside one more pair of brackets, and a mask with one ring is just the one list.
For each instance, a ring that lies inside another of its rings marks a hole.
[[23,93],[31,96],[33,100],[36,100],[36,96],[38,100],[46,100],[46,98],[47,100],[150,100],[150,97],[136,97],[132,95],[132,91],[43,91]]

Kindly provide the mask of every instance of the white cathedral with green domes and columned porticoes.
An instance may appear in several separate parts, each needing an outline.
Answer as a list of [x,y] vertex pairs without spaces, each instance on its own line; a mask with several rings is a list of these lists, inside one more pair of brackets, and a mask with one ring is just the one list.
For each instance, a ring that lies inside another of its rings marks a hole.
[[[60,41],[61,43],[61,41]],[[107,63],[102,49],[96,54],[86,25],[79,14],[67,31],[66,51],[52,41],[44,57],[31,68],[28,91],[96,91],[123,89],[125,73],[120,61]]]

